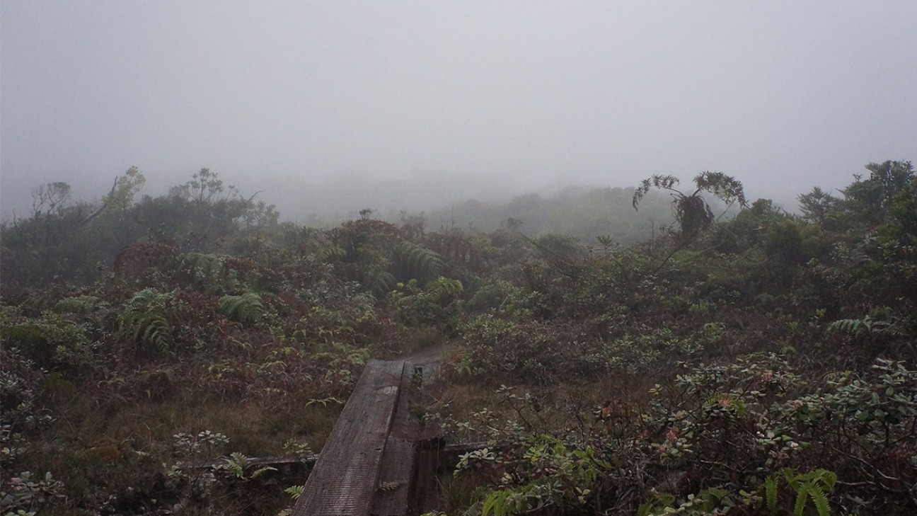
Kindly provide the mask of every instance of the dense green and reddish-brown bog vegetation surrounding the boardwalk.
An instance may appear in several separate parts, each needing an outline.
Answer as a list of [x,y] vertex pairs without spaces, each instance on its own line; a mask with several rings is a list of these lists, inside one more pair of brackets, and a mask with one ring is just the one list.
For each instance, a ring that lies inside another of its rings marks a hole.
[[[484,443],[447,514],[917,512],[911,163],[800,215],[680,180],[586,193],[632,219],[552,214],[567,234],[525,233],[533,198],[317,230],[206,169],[40,186],[2,227],[2,513],[277,514],[302,478],[251,457],[318,452],[369,358],[442,343],[418,417]],[[653,206],[668,227],[623,243]]]

